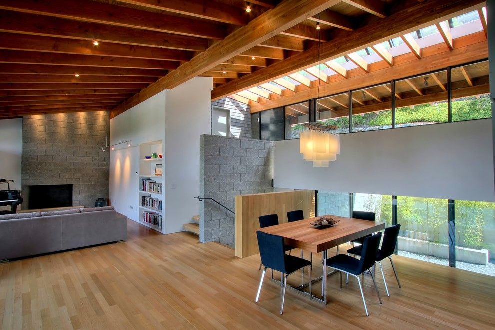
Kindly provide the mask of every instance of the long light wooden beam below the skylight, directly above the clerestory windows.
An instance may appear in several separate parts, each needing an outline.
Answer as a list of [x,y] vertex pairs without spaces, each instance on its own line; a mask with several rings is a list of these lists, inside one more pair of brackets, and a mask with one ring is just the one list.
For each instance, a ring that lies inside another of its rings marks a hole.
[[483,32],[457,38],[455,44],[454,50],[449,50],[445,44],[441,44],[440,47],[435,45],[424,48],[424,57],[421,59],[417,59],[412,53],[397,56],[394,59],[394,66],[388,66],[383,61],[376,62],[370,65],[370,73],[355,69],[355,71],[352,70],[353,72],[348,79],[334,75],[329,84],[320,86],[319,92],[317,87],[313,87],[295,93],[284,93],[283,96],[273,94],[269,102],[261,100],[259,104],[251,107],[251,112],[299,103],[311,98],[347,92],[348,90],[366,88],[390,80],[400,80],[406,74],[424,73],[425,67],[434,71],[444,69],[447,66],[464,64],[467,59],[475,61],[488,58],[488,43]]

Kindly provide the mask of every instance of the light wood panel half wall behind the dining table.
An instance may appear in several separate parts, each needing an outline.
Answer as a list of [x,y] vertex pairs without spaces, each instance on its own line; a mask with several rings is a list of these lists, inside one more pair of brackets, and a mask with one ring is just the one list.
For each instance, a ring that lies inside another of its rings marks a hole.
[[235,256],[244,258],[259,253],[256,230],[261,215],[278,214],[287,222],[287,212],[302,209],[304,217],[315,216],[314,190],[268,192],[235,196]]

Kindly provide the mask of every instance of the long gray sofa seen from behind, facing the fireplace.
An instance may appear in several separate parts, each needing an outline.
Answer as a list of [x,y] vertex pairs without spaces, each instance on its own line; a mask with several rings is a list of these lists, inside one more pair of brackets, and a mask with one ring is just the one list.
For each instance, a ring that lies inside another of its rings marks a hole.
[[127,239],[127,217],[111,206],[24,214],[36,216],[0,219],[0,260]]

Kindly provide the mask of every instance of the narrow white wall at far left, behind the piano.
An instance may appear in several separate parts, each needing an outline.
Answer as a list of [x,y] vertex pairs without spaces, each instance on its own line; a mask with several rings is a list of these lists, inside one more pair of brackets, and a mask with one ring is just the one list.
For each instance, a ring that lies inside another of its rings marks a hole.
[[[22,119],[0,120],[0,178],[15,180],[10,183],[10,189],[21,188],[21,166]],[[0,189],[7,189],[7,184],[0,185]],[[0,210],[9,209],[10,206],[0,207]]]

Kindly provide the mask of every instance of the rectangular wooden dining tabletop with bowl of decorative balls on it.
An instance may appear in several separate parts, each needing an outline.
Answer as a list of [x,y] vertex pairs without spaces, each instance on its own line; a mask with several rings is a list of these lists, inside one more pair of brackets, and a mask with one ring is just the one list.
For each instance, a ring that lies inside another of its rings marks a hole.
[[259,229],[273,235],[282,236],[286,245],[319,253],[348,241],[385,229],[385,222],[353,219],[331,215],[340,220],[328,228],[317,228],[309,222],[316,218],[282,223]]

